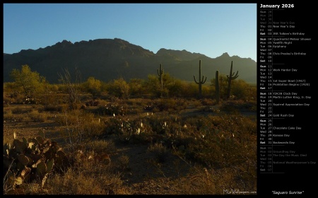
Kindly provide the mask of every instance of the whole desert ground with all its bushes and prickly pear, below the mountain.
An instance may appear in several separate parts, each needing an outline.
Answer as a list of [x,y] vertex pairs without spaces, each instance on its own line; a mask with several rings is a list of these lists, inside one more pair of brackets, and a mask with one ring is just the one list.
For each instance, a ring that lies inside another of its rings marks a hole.
[[256,194],[256,88],[89,80],[4,83],[4,194]]

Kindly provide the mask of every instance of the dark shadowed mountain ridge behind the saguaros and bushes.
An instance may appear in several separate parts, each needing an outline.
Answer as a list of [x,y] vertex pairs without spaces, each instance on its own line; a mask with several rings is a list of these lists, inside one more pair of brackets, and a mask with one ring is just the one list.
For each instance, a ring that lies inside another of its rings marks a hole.
[[216,70],[220,74],[229,74],[233,61],[233,71],[239,71],[239,78],[247,82],[257,82],[257,63],[248,58],[230,57],[228,53],[210,58],[204,54],[186,50],[160,49],[156,54],[125,40],[98,39],[71,43],[63,40],[55,45],[38,50],[21,50],[14,54],[4,54],[4,82],[12,69],[20,69],[28,64],[32,71],[45,76],[49,83],[58,83],[62,69],[74,74],[75,68],[81,72],[81,81],[94,76],[101,81],[111,81],[119,77],[147,78],[148,74],[157,74],[160,64],[170,76],[185,81],[193,81],[193,75],[199,75],[199,59],[202,74],[215,78]]

